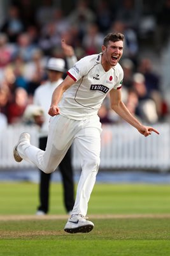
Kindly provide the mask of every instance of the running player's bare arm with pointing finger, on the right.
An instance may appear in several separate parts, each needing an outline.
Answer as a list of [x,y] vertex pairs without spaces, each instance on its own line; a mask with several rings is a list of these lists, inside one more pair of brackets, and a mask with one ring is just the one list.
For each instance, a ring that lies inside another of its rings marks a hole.
[[138,119],[136,119],[126,108],[124,102],[122,102],[122,92],[120,90],[112,89],[110,91],[110,100],[111,100],[111,108],[121,116],[125,121],[135,127],[141,134],[145,137],[152,134],[152,132],[156,132],[159,134],[159,131],[150,126],[145,126],[141,124]]

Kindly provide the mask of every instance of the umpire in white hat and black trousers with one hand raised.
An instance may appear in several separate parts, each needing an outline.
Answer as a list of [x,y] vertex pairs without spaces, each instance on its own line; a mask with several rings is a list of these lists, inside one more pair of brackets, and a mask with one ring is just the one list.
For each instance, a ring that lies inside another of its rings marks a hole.
[[[67,45],[62,40],[62,49],[69,63],[74,64],[75,56],[72,47]],[[72,62],[71,62],[72,61]],[[48,109],[52,99],[52,93],[55,88],[63,81],[62,77],[65,69],[65,61],[62,58],[50,58],[46,65],[48,74],[48,81],[45,84],[41,84],[34,92],[33,103],[36,106],[41,106],[44,110],[44,120],[39,132],[39,148],[45,150],[46,141],[48,136],[48,125],[50,116],[48,115]],[[62,182],[64,187],[64,205],[67,213],[70,213],[74,205],[74,182],[73,182],[73,168],[71,165],[71,148],[67,151],[66,156],[59,164],[59,170],[62,175]],[[36,212],[37,215],[44,215],[49,210],[49,189],[50,189],[51,173],[47,174],[40,172],[39,183],[39,207]]]

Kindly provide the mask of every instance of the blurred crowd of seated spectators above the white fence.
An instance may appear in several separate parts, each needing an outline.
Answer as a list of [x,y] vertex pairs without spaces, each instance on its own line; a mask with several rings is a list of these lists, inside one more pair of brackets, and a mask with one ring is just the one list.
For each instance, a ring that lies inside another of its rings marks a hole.
[[[41,1],[38,8],[31,0],[11,1],[0,26],[0,126],[24,122],[24,111],[32,104],[34,91],[47,79],[46,61],[50,57],[64,58],[61,38],[80,59],[101,52],[103,38],[110,31],[125,35],[120,64],[127,108],[148,124],[166,120],[169,109],[160,74],[153,69],[150,58],[139,55],[140,39],[152,35],[157,39],[153,47],[159,52],[169,38],[170,0],[158,9],[151,15],[146,6],[141,12],[134,0],[122,0],[121,4],[100,0],[94,9],[90,1],[80,0],[66,15],[52,0]],[[121,122],[110,110],[108,97],[99,111],[101,122]]]

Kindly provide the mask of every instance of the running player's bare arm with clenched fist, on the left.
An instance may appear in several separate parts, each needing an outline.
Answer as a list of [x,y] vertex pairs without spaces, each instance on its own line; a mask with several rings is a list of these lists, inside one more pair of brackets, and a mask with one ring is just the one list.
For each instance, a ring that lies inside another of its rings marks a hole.
[[60,102],[60,99],[62,98],[63,93],[74,83],[75,82],[71,77],[66,76],[64,81],[62,81],[62,83],[60,83],[59,86],[55,88],[52,94],[52,103],[50,109],[48,110],[48,114],[50,116],[59,115],[60,109],[58,107],[58,104]]

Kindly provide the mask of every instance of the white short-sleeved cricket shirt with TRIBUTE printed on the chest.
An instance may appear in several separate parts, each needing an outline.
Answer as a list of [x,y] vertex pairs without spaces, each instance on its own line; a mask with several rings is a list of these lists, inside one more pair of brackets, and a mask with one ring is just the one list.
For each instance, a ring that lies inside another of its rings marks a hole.
[[101,65],[100,54],[86,56],[77,61],[67,75],[75,83],[68,88],[59,102],[60,115],[75,120],[85,120],[97,115],[110,90],[122,86],[124,72],[119,63],[106,72]]

